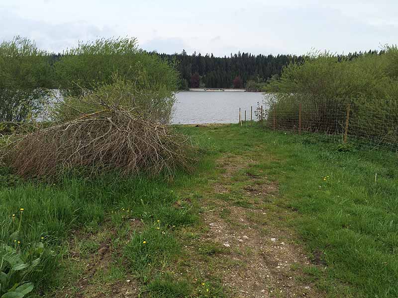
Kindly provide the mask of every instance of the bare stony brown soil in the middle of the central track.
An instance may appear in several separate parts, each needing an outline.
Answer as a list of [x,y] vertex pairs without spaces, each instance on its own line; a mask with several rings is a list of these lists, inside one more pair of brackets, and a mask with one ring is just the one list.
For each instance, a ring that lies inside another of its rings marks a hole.
[[[242,158],[220,160],[224,174],[222,181],[214,183],[214,191],[227,192],[234,173],[253,163]],[[254,175],[250,179],[255,179],[256,183],[242,189],[249,202],[254,196],[265,202],[270,196],[277,195],[277,183],[266,182],[265,177]],[[248,209],[223,202],[218,209],[204,214],[209,227],[204,241],[215,241],[230,249],[230,253],[216,257],[223,285],[231,290],[233,297],[324,296],[313,285],[298,278],[297,265],[309,265],[310,262],[294,244],[294,236],[275,224],[275,221],[283,220],[283,215],[272,215],[270,213],[274,211],[264,210],[261,205]],[[229,210],[227,218],[220,217],[221,209]]]

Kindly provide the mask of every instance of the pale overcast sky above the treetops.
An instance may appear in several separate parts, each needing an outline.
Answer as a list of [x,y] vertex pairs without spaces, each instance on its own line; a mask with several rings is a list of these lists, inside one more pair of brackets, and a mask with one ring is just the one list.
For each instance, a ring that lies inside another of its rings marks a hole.
[[0,40],[62,52],[137,37],[159,53],[348,53],[398,43],[398,0],[0,0]]

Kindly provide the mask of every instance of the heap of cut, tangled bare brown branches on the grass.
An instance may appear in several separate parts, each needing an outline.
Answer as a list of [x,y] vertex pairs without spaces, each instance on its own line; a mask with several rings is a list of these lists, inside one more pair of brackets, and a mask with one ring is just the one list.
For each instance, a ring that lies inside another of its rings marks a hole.
[[76,167],[120,174],[189,169],[195,151],[190,138],[115,105],[20,137],[2,161],[24,177],[57,176]]

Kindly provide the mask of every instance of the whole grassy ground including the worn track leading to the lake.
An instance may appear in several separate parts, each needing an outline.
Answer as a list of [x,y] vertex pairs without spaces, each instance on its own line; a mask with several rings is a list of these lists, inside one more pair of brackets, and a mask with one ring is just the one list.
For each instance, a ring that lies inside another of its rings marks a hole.
[[54,251],[25,277],[36,294],[398,297],[397,156],[259,127],[179,130],[206,152],[173,181],[3,173],[0,240],[26,261],[38,242]]

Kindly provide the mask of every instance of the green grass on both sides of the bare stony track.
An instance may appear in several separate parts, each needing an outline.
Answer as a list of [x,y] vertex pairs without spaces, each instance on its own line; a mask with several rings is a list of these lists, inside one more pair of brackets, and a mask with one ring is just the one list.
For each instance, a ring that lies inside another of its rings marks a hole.
[[[119,261],[106,283],[131,274],[148,297],[229,297],[220,276],[182,273],[196,267],[190,253],[210,263],[212,256],[224,253],[212,242],[195,244],[207,228],[200,220],[206,212],[200,202],[212,192],[209,181],[222,174],[215,160],[245,156],[256,163],[235,174],[234,185],[247,185],[249,176],[266,176],[279,184],[275,200],[263,204],[270,213],[284,212],[283,223],[297,232],[296,241],[312,260],[301,278],[329,297],[398,297],[397,155],[341,151],[327,138],[257,126],[178,129],[206,152],[194,173],[177,173],[173,181],[107,175],[95,180],[65,177],[53,185],[21,181],[1,170],[0,241],[13,246],[17,237],[16,249],[25,259],[38,242],[56,253],[43,261],[45,270],[25,277],[35,283],[36,293],[52,297],[51,291],[82,274],[82,266],[73,265],[66,254],[74,231],[95,235],[109,226],[117,231],[109,237],[112,258]],[[244,208],[254,204],[235,188],[213,197]],[[228,219],[227,207],[220,216]],[[268,213],[266,220],[250,212],[248,217],[260,226],[274,222]],[[132,228],[133,219],[142,226]],[[79,242],[82,257],[95,254],[100,241]],[[187,252],[186,245],[196,249]],[[103,276],[98,274],[98,283]]]

